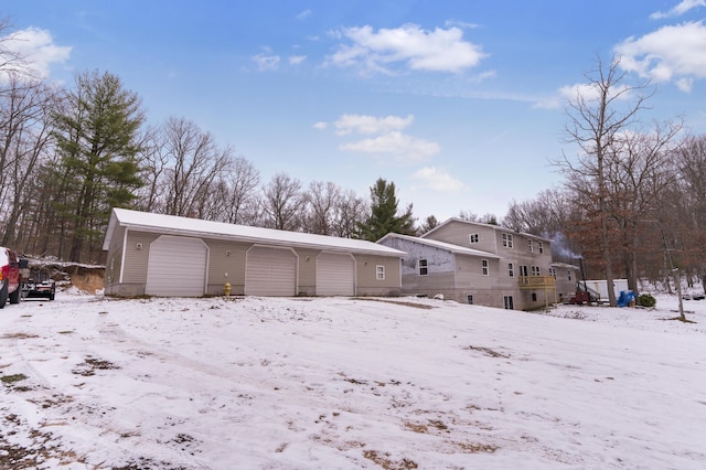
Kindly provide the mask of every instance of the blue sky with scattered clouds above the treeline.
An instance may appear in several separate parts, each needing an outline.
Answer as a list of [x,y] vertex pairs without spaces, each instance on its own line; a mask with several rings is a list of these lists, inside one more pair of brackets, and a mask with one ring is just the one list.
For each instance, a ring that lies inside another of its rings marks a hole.
[[560,182],[564,103],[618,53],[645,119],[706,132],[706,0],[0,0],[47,77],[119,75],[151,124],[185,117],[268,181],[377,178],[424,221],[505,215]]

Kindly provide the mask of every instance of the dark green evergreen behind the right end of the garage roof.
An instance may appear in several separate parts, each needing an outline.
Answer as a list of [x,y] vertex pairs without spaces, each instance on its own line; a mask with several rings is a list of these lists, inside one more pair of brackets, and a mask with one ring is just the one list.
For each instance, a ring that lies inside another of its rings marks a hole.
[[395,183],[378,178],[371,188],[371,215],[364,223],[359,223],[359,238],[377,242],[388,233],[402,235],[415,234],[415,218],[411,204],[404,214],[397,215],[398,200]]

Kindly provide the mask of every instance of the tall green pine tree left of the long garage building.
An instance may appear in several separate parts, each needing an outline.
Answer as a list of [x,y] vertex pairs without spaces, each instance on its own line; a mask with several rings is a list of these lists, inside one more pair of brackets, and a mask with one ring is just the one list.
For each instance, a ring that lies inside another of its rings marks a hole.
[[137,94],[124,89],[119,77],[98,72],[76,76],[56,131],[56,174],[71,189],[62,202],[71,207],[71,260],[81,261],[85,243],[90,248],[98,241],[114,205],[126,206],[135,199],[141,185],[137,156],[143,121]]

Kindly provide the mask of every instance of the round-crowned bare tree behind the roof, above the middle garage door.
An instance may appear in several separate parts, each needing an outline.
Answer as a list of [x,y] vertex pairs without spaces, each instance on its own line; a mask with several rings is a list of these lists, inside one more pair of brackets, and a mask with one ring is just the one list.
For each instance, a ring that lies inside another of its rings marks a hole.
[[302,226],[301,211],[304,204],[301,182],[285,173],[277,173],[263,188],[263,222],[270,228],[298,231]]

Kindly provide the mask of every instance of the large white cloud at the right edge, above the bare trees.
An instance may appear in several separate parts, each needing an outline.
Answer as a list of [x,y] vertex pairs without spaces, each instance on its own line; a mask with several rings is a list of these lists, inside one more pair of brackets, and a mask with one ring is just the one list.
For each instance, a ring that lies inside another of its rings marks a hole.
[[627,39],[616,46],[616,53],[623,70],[654,82],[675,78],[685,89],[689,79],[706,77],[706,28],[700,21],[664,26],[639,39]]

